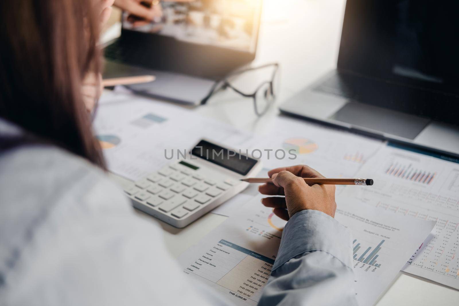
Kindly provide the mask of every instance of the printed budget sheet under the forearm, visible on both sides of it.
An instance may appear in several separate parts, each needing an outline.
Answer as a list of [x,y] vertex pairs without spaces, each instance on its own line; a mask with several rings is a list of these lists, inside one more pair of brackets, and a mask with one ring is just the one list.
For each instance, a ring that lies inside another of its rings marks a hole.
[[[354,285],[360,305],[375,303],[435,224],[417,219],[406,222],[352,204],[337,210],[336,218],[354,237]],[[285,223],[256,197],[179,257],[183,272],[235,304],[256,305],[269,279]]]

